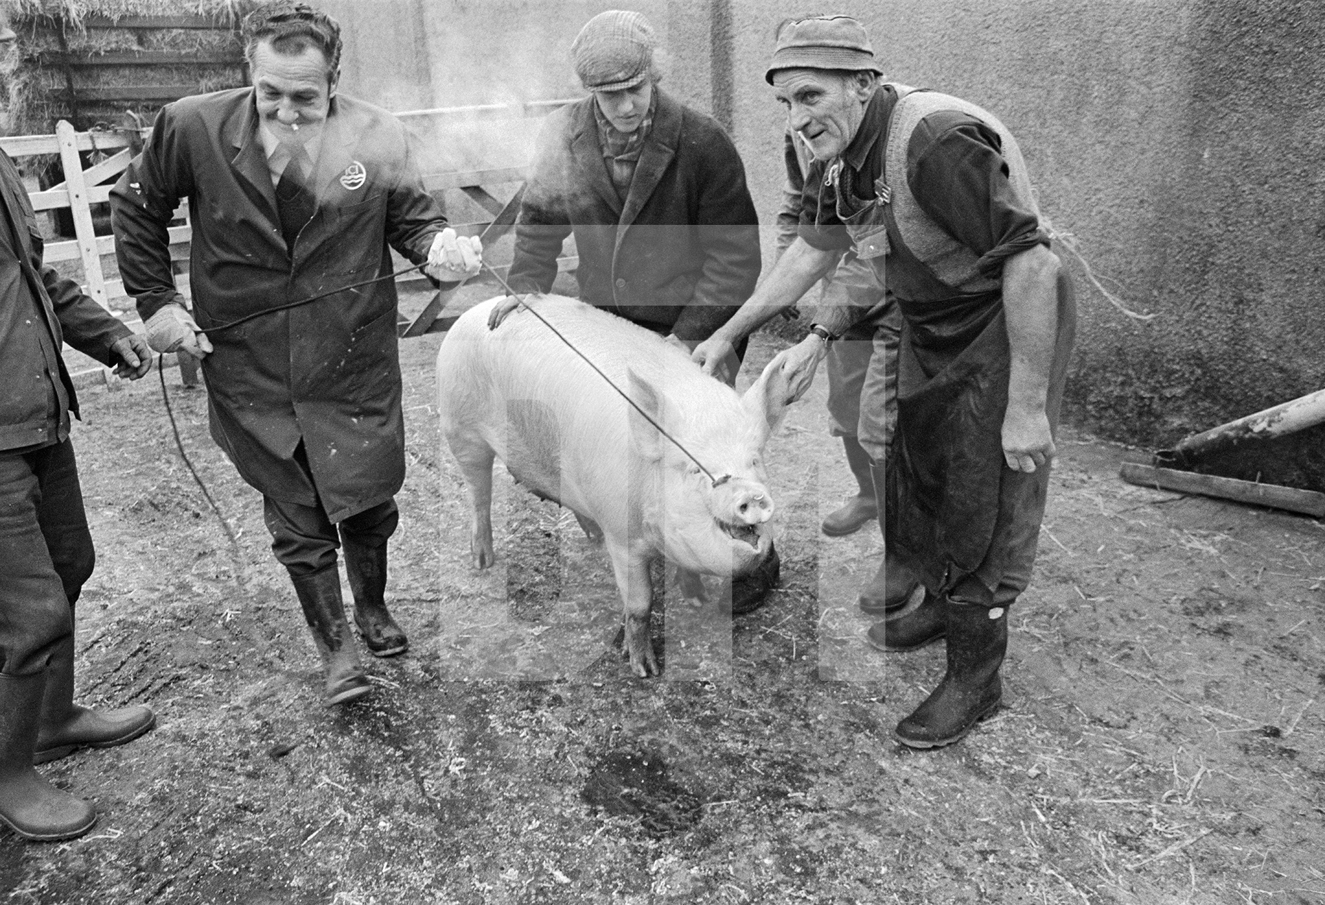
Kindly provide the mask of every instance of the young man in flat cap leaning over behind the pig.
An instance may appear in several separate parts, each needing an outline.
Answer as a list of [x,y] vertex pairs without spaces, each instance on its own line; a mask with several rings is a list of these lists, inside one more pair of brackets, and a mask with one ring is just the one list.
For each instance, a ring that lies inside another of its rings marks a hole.
[[[591,19],[571,45],[590,97],[558,110],[538,140],[515,227],[510,286],[551,292],[556,256],[575,236],[580,298],[686,351],[750,297],[759,225],[735,146],[712,118],[659,87],[656,40],[637,12]],[[517,307],[493,309],[496,327]],[[745,343],[723,362],[735,380]],[[731,592],[758,607],[778,579],[776,553]]]

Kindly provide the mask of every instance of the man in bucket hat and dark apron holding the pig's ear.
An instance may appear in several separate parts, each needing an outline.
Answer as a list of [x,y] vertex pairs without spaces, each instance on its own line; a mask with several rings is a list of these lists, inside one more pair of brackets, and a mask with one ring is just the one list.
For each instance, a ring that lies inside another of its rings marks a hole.
[[[942,682],[897,726],[901,742],[928,749],[965,737],[1002,697],[1007,608],[1035,560],[1075,306],[1011,133],[973,103],[880,76],[853,19],[779,30],[766,80],[815,155],[800,235],[694,358],[716,367],[843,253],[897,298],[897,431],[886,488],[878,458],[874,477],[888,602],[904,604],[916,583],[926,594],[869,641],[909,651],[946,639]],[[856,301],[823,311],[782,352],[798,394],[859,313]]]

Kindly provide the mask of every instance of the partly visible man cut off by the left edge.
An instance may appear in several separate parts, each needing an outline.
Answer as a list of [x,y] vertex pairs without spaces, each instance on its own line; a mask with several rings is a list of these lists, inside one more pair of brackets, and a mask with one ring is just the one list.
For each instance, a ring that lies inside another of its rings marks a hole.
[[[16,36],[0,7],[0,134]],[[0,152],[0,822],[24,839],[81,836],[87,802],[33,763],[110,747],[151,729],[146,706],[74,704],[74,604],[95,562],[69,413],[78,399],[61,343],[139,379],[151,350],[77,284],[42,264],[41,231],[19,170]]]

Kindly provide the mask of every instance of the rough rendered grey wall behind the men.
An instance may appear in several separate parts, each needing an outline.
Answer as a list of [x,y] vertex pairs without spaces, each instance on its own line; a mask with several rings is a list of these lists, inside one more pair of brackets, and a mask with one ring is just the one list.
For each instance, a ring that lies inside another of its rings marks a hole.
[[[1124,317],[1060,249],[1081,315],[1071,420],[1159,447],[1325,387],[1318,0],[323,5],[347,27],[346,89],[394,109],[578,94],[567,56],[579,27],[604,8],[639,9],[670,56],[666,86],[730,125],[765,223],[784,127],[763,81],[774,27],[853,15],[890,80],[998,114],[1055,228],[1132,307],[1155,314]],[[1283,447],[1296,482],[1325,485],[1322,448],[1325,431]]]

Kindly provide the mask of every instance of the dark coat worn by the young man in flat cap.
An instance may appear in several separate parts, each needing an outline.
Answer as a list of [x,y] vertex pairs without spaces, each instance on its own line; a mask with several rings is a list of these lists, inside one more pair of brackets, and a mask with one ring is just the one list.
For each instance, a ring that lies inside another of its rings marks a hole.
[[510,285],[550,292],[574,232],[580,298],[657,333],[708,339],[754,292],[759,224],[735,146],[712,117],[659,91],[623,200],[594,98],[549,117],[515,227]]

